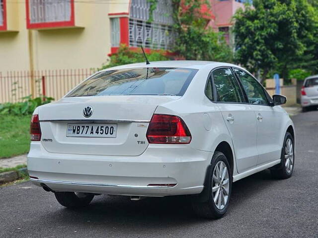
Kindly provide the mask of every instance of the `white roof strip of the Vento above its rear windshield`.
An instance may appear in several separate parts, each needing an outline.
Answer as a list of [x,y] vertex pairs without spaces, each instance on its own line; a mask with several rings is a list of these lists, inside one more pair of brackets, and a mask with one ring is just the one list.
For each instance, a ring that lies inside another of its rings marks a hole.
[[238,65],[231,63],[215,62],[215,61],[200,61],[200,60],[167,60],[167,61],[153,61],[150,64],[146,62],[141,63],[131,63],[124,64],[120,66],[115,66],[111,68],[106,68],[105,70],[114,70],[114,69],[123,69],[123,68],[139,68],[139,67],[177,67],[177,68],[193,68],[193,69],[202,69],[207,66],[219,67],[219,66],[234,66],[239,67]]

